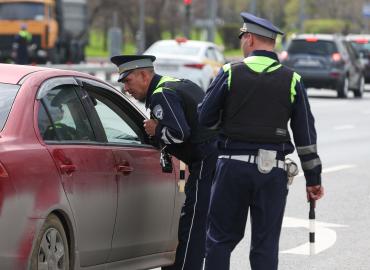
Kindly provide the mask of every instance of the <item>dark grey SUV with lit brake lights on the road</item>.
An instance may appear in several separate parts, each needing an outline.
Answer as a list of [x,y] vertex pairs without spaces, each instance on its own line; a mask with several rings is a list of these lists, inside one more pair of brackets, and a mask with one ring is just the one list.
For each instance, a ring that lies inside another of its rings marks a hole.
[[352,90],[355,97],[362,97],[363,67],[341,36],[297,35],[280,57],[283,64],[302,76],[307,88],[333,89],[341,98],[347,98]]

